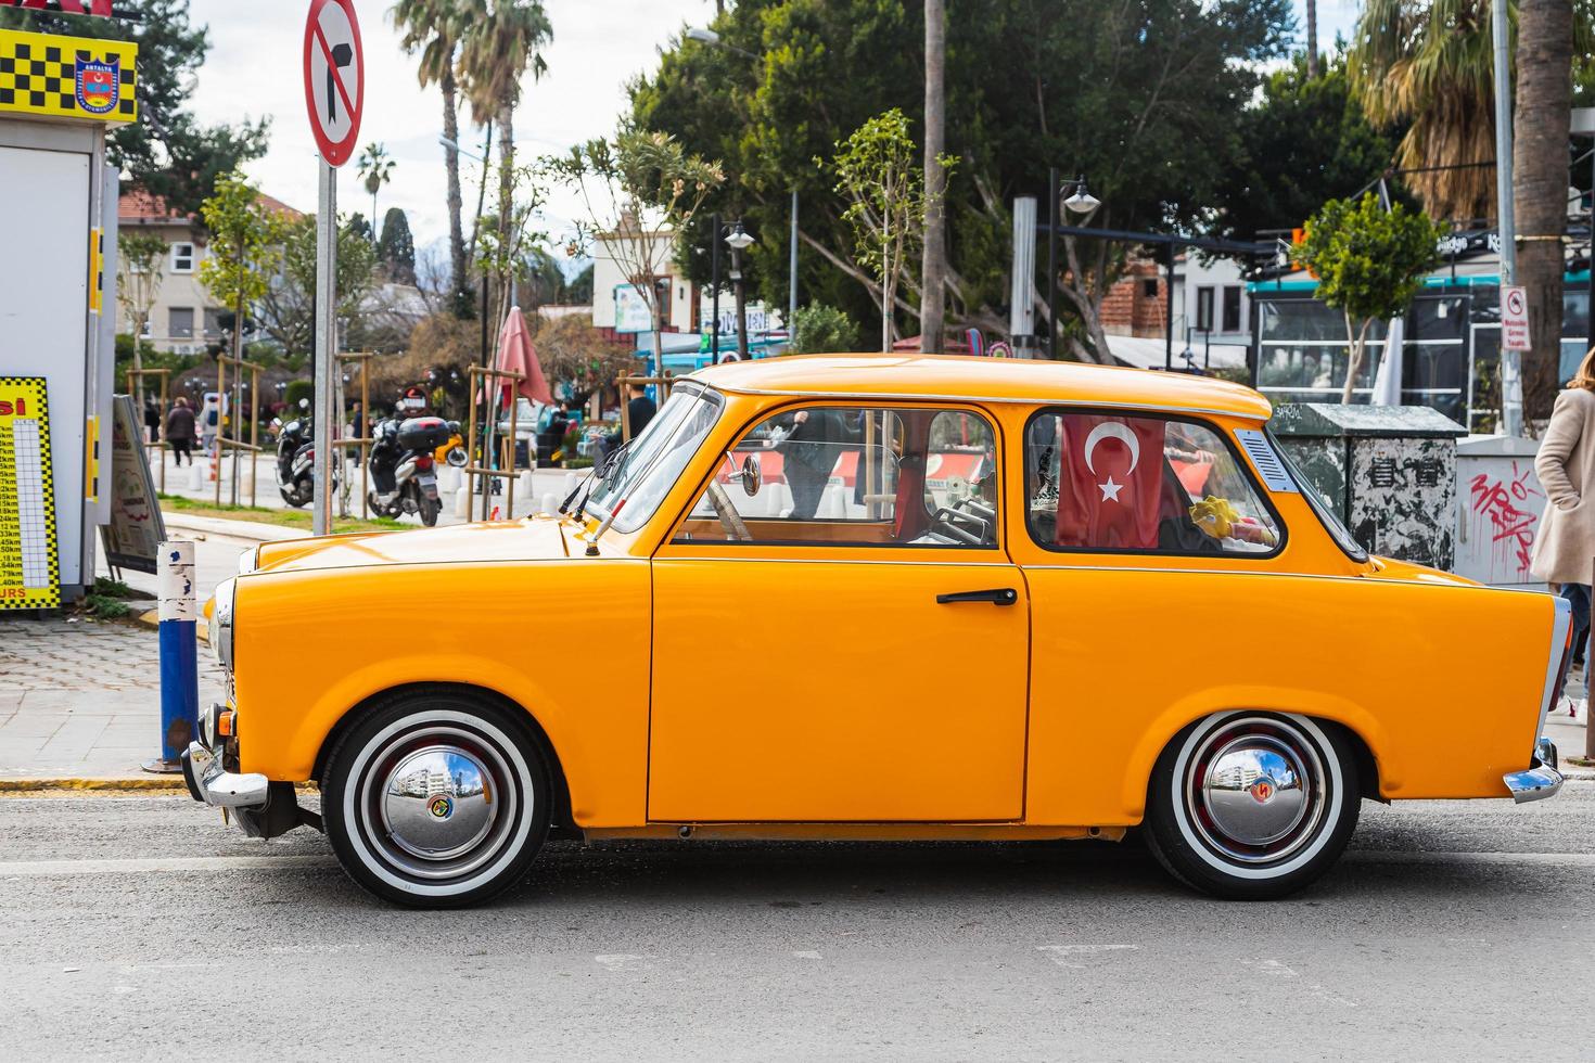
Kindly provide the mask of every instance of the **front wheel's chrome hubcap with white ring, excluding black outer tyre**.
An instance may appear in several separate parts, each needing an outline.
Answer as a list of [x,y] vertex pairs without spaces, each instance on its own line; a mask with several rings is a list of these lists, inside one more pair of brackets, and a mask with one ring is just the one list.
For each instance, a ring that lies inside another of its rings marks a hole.
[[450,880],[493,861],[514,834],[517,776],[496,743],[431,724],[389,738],[360,784],[360,827],[375,854],[412,878]]

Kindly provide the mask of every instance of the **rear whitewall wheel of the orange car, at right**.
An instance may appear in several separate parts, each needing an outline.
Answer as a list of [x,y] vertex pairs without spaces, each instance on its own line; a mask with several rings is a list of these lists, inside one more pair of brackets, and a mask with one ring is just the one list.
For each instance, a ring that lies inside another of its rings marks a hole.
[[1357,826],[1357,759],[1305,716],[1220,712],[1174,736],[1147,792],[1147,845],[1180,881],[1231,900],[1302,889]]

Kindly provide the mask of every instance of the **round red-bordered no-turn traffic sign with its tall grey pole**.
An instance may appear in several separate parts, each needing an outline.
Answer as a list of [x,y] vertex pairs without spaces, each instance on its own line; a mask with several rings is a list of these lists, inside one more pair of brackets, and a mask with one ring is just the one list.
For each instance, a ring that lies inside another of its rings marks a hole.
[[332,531],[333,437],[338,410],[332,378],[338,354],[338,169],[360,135],[365,104],[365,56],[354,0],[311,0],[305,18],[305,107],[321,148],[316,196],[316,462],[311,531]]

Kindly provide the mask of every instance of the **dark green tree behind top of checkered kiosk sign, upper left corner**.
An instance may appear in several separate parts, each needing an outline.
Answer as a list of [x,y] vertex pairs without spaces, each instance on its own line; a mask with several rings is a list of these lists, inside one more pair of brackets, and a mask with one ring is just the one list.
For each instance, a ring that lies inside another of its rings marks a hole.
[[185,108],[211,48],[188,22],[188,0],[144,0],[139,19],[105,19],[0,8],[0,29],[70,33],[139,45],[139,121],[110,129],[105,153],[128,185],[160,196],[179,215],[198,214],[220,174],[266,153],[270,120],[203,126]]

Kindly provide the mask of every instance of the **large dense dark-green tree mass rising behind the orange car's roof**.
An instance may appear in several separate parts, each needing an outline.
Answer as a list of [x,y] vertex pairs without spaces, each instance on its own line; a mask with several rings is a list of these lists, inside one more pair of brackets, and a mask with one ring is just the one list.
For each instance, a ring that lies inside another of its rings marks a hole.
[[[740,0],[711,25],[726,45],[759,59],[678,41],[632,86],[635,121],[724,159],[735,175],[700,217],[719,212],[742,217],[751,231],[785,233],[796,190],[807,298],[877,320],[874,279],[853,257],[841,217],[847,202],[813,159],[893,107],[911,127],[920,123],[922,5]],[[1102,199],[1091,225],[1204,225],[1238,147],[1230,116],[1252,100],[1263,62],[1292,45],[1290,29],[1287,0],[949,3],[946,129],[947,151],[960,159],[946,198],[949,324],[1006,331],[1008,204],[1040,194],[1050,166],[1088,175]],[[694,237],[707,242],[705,233]],[[1075,352],[1097,357],[1105,346],[1097,311],[1126,247],[1091,239],[1069,241],[1065,250],[1073,268],[1062,274],[1064,311],[1081,319],[1085,335]],[[748,255],[759,295],[783,301],[785,241],[759,241]],[[705,279],[707,260],[686,260],[694,279]],[[919,316],[912,274],[896,312]]]

